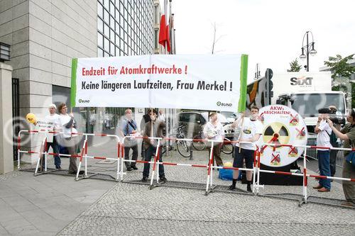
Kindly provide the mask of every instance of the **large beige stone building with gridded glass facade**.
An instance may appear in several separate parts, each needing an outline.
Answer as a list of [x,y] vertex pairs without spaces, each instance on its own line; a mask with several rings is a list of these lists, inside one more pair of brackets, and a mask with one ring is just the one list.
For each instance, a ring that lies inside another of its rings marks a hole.
[[[41,118],[50,103],[70,105],[74,57],[153,54],[154,9],[153,0],[0,0],[0,42],[11,45],[6,63],[19,80],[20,116]],[[92,114],[97,127],[111,129],[123,109],[73,111],[80,130],[92,131]]]

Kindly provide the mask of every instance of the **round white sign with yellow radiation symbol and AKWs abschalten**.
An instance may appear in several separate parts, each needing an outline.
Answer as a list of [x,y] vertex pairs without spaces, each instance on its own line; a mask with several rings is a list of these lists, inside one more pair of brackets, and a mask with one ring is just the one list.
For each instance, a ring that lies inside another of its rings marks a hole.
[[[307,126],[302,117],[288,106],[271,105],[260,109],[263,135],[258,140],[261,163],[269,167],[283,167],[295,162],[307,145]],[[273,144],[268,146],[263,144]],[[283,145],[292,145],[283,146]]]

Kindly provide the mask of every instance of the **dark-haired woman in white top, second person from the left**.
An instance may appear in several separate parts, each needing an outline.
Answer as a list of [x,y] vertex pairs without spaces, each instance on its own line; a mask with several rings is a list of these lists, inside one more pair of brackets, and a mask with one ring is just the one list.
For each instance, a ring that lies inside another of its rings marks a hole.
[[[67,106],[65,103],[60,103],[58,110],[60,112],[60,125],[62,125],[62,132],[64,132],[62,145],[67,147],[69,154],[77,155],[79,140],[77,139],[77,135],[72,134],[77,133],[77,130],[75,129],[74,115],[72,113],[67,113]],[[69,174],[77,174],[77,157],[70,157],[69,159]]]

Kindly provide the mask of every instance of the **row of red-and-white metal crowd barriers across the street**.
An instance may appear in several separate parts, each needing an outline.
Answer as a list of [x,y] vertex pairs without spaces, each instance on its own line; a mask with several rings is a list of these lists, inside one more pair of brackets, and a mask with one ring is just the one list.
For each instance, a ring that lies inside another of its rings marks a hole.
[[[33,152],[33,151],[22,151],[21,150],[21,133],[46,133],[45,131],[38,131],[38,130],[21,130],[18,133],[18,169],[20,169],[20,153],[22,152],[26,152],[26,153],[38,153],[39,157],[38,157],[38,162],[36,164],[36,168],[35,168],[35,175],[37,174],[38,171],[38,166],[40,163],[40,155],[44,154],[45,155],[45,159],[46,156],[48,154],[52,154],[54,155],[55,153],[48,153],[48,150],[46,150],[46,138],[43,139],[42,141],[42,145],[40,147],[40,152]],[[51,132],[49,132],[51,133]],[[55,132],[52,132],[55,133]],[[209,161],[207,165],[201,165],[201,164],[179,164],[179,163],[171,163],[171,162],[160,162],[160,142],[161,140],[186,140],[189,142],[192,141],[201,141],[201,140],[192,140],[192,139],[179,139],[179,138],[163,138],[163,137],[133,137],[133,138],[146,138],[149,140],[157,140],[157,148],[155,150],[155,155],[154,155],[154,159],[153,162],[147,162],[147,161],[139,161],[139,160],[129,160],[129,159],[124,159],[124,140],[126,138],[132,138],[131,136],[126,136],[124,137],[124,139],[122,140],[122,143],[119,142],[119,137],[117,137],[116,135],[106,135],[106,134],[99,134],[99,136],[109,136],[109,137],[115,137],[118,142],[117,142],[117,159],[116,158],[109,158],[109,157],[93,157],[93,156],[88,156],[87,155],[87,136],[88,135],[98,135],[98,134],[80,134],[80,133],[72,133],[75,135],[85,135],[85,140],[84,140],[84,144],[82,146],[82,152],[80,153],[80,155],[70,155],[70,154],[60,154],[63,156],[68,156],[68,157],[76,157],[76,158],[80,158],[80,162],[79,162],[79,167],[77,168],[77,174],[75,177],[75,180],[79,180],[79,174],[80,174],[80,168],[82,167],[82,159],[84,158],[84,177],[81,179],[85,179],[85,178],[89,178],[89,176],[87,175],[87,158],[92,158],[92,159],[113,159],[113,160],[117,160],[117,172],[116,172],[116,180],[118,181],[119,179],[121,179],[121,181],[124,179],[124,174],[126,174],[126,172],[124,172],[123,170],[123,166],[124,166],[124,162],[136,162],[136,163],[150,163],[153,164],[153,172],[152,172],[152,177],[151,177],[151,183],[150,183],[150,189],[153,189],[153,180],[155,178],[155,172],[157,172],[156,174],[156,181],[157,183],[159,183],[159,167],[160,164],[165,164],[165,165],[172,165],[172,166],[185,166],[185,167],[200,167],[200,168],[206,168],[207,169],[207,181],[206,181],[206,191],[205,194],[208,195],[209,192],[213,191],[214,186],[213,186],[213,171],[214,169],[233,169],[233,170],[245,170],[245,171],[251,171],[253,172],[253,194],[254,195],[258,195],[259,194],[259,189],[263,188],[263,185],[260,185],[260,174],[261,172],[263,173],[271,173],[271,174],[280,174],[280,175],[294,175],[294,176],[302,176],[303,177],[303,181],[302,181],[302,199],[300,201],[301,205],[302,203],[307,203],[307,184],[308,184],[308,178],[312,177],[312,178],[318,178],[318,179],[337,179],[337,180],[342,180],[342,181],[355,181],[355,179],[349,179],[349,178],[339,178],[339,177],[332,177],[332,176],[320,176],[320,175],[312,175],[312,174],[307,174],[307,162],[306,162],[306,157],[307,157],[307,150],[315,150],[315,149],[322,149],[322,150],[341,150],[341,151],[355,151],[355,149],[351,149],[351,148],[342,148],[342,147],[320,147],[320,146],[316,146],[316,145],[280,145],[280,144],[271,144],[271,143],[263,143],[263,145],[261,145],[260,150],[263,149],[264,146],[271,146],[271,147],[302,147],[305,149],[305,152],[303,154],[303,173],[292,173],[292,172],[278,172],[278,171],[269,171],[269,170],[263,170],[261,169],[261,153],[258,152],[259,148],[253,144],[253,142],[240,142],[240,143],[250,143],[252,145],[254,145],[254,147],[256,147],[256,152],[254,154],[254,162],[253,162],[253,169],[247,169],[247,168],[235,168],[235,167],[218,167],[218,166],[214,166],[214,157],[213,157],[213,148],[214,148],[214,144],[217,142],[231,142],[231,143],[236,143],[239,141],[216,141],[216,140],[203,140],[205,142],[211,142],[211,151],[209,153]],[[121,159],[120,159],[121,158]],[[121,165],[121,166],[120,166]],[[47,165],[46,165],[46,160],[45,160],[45,171],[47,170]]]

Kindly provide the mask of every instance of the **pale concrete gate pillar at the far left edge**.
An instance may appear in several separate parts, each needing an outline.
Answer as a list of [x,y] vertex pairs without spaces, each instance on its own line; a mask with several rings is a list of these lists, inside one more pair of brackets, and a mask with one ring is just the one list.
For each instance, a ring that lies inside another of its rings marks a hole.
[[0,174],[13,171],[12,67],[0,62]]

